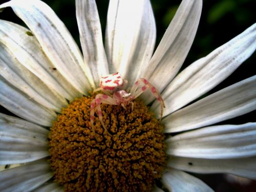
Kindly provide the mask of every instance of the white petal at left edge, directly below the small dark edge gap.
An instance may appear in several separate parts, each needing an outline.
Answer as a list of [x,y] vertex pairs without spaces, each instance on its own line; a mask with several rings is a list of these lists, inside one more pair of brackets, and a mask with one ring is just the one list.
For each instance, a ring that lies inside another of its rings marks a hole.
[[0,113],[0,131],[46,141],[49,131],[35,123]]

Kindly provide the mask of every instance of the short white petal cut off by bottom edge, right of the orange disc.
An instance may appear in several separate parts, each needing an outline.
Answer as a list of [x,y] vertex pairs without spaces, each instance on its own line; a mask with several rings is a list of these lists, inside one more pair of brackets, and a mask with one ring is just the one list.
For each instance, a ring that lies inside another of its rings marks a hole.
[[163,174],[162,183],[169,191],[174,192],[213,191],[200,179],[174,168]]

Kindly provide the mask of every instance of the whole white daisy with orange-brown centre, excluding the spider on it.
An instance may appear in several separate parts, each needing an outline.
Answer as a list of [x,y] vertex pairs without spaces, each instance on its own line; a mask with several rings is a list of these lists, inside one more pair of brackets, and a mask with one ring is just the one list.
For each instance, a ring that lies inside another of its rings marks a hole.
[[[178,73],[202,0],[181,2],[154,53],[147,0],[110,1],[104,46],[95,1],[76,0],[82,54],[45,3],[6,7],[28,28],[0,20],[0,104],[18,116],[0,114],[1,191],[212,191],[187,172],[256,179],[256,123],[216,125],[256,109],[256,76],[198,99],[254,52],[255,24]],[[162,121],[145,91],[133,110],[101,104],[109,134],[99,112],[92,130],[93,90],[116,72],[155,86]]]

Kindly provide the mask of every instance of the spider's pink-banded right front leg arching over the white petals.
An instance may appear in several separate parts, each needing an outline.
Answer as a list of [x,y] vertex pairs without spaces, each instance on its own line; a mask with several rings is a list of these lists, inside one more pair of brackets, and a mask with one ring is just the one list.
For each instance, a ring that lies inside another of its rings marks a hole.
[[144,91],[146,91],[148,88],[150,88],[152,94],[156,97],[156,99],[160,102],[161,105],[161,112],[160,112],[160,120],[163,116],[163,108],[165,108],[163,99],[160,95],[160,93],[157,91],[157,89],[146,79],[139,78],[131,88],[130,93],[134,96],[134,98],[137,98],[139,95],[141,95]]

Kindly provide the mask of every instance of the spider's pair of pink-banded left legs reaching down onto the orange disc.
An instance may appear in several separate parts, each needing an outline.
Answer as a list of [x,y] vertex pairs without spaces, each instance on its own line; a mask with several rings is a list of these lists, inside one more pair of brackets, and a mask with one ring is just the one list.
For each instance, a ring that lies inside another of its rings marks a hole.
[[109,133],[108,130],[106,129],[106,126],[105,126],[105,124],[103,122],[103,119],[102,119],[102,111],[101,111],[101,108],[100,108],[100,103],[114,104],[114,105],[118,104],[115,99],[113,99],[112,97],[110,97],[108,95],[104,95],[104,94],[97,94],[95,99],[92,100],[92,102],[91,102],[91,112],[90,112],[90,121],[91,121],[91,126],[92,126],[92,130],[93,130],[94,135],[95,135],[95,128],[94,128],[93,123],[94,123],[95,107],[97,108],[100,123],[102,124],[106,133]]

